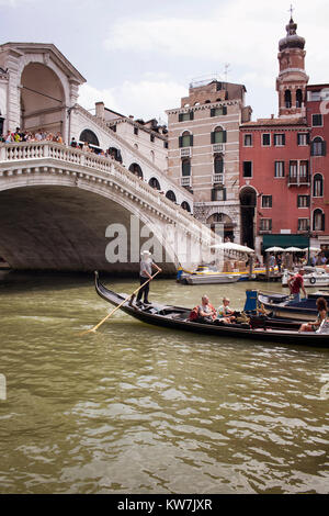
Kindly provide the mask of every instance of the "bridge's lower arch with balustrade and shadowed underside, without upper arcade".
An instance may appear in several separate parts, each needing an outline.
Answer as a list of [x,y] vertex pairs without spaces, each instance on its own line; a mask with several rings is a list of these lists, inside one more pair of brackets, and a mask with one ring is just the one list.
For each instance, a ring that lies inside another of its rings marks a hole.
[[[0,256],[14,269],[125,272],[212,259],[214,234],[117,161],[53,142],[0,145]],[[201,256],[203,253],[203,256]]]

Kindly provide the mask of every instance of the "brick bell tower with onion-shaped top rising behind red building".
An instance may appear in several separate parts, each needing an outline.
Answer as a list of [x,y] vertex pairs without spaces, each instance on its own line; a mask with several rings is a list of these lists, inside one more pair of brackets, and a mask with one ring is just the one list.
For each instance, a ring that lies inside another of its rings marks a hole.
[[279,42],[280,74],[276,79],[279,93],[279,116],[305,116],[306,86],[305,40],[296,34],[297,24],[293,16],[286,25],[286,36]]

